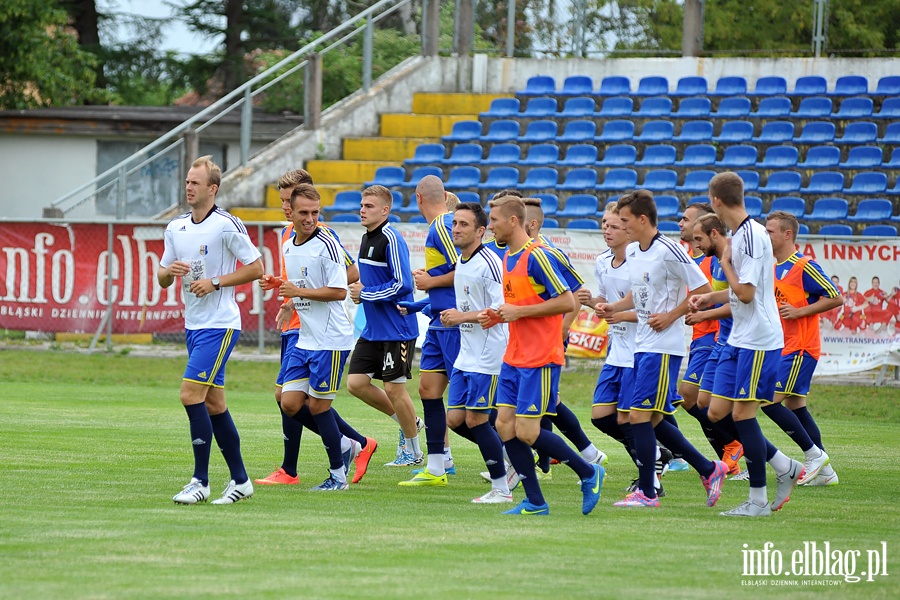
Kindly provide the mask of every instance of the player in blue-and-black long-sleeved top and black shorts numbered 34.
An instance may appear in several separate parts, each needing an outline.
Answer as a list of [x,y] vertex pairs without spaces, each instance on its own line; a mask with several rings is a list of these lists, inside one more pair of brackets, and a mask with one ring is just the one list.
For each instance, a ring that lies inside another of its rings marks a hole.
[[[415,408],[406,391],[419,325],[415,315],[401,315],[400,302],[413,300],[413,277],[406,240],[388,223],[393,196],[384,186],[362,193],[360,222],[366,228],[359,246],[359,281],[350,284],[350,299],[362,305],[366,326],[350,358],[347,389],[366,404],[379,408],[390,401],[400,425],[401,448],[389,466],[421,465]],[[384,382],[384,389],[372,385]]]

